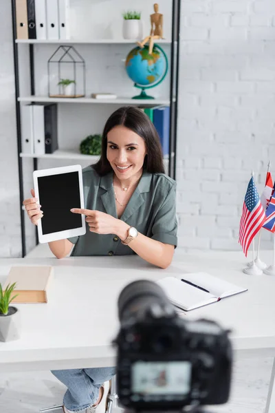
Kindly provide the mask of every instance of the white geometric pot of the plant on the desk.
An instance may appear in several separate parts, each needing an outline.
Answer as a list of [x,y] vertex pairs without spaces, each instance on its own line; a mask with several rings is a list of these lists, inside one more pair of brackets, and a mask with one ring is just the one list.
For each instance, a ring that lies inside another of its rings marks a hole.
[[0,315],[0,341],[17,340],[20,336],[20,312],[18,308],[10,306],[8,315]]

